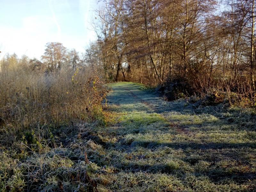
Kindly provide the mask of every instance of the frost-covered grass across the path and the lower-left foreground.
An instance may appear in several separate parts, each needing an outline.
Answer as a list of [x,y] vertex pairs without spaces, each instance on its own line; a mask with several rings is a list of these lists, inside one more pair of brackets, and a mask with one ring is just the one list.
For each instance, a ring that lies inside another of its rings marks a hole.
[[[58,191],[60,182],[65,191],[86,191],[86,174],[106,192],[255,191],[252,111],[166,102],[141,84],[109,86],[106,126],[76,125],[63,145],[23,161],[2,152],[0,179],[27,188],[31,181],[24,175],[30,170],[32,179],[44,179],[40,190],[46,191]],[[13,177],[6,180],[6,174]]]

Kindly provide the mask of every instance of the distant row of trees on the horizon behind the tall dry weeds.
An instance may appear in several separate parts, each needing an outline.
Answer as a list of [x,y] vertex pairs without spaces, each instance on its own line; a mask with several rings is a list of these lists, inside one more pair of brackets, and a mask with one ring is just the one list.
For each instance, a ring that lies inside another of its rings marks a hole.
[[[0,77],[8,78],[10,73],[19,70],[49,73],[57,72],[62,68],[76,71],[80,67],[91,67],[88,64],[86,53],[79,53],[76,49],[69,50],[59,42],[47,43],[45,47],[45,52],[40,60],[31,59],[27,55],[22,55],[19,58],[16,53],[6,53],[0,60]],[[93,68],[91,69],[94,71]]]

